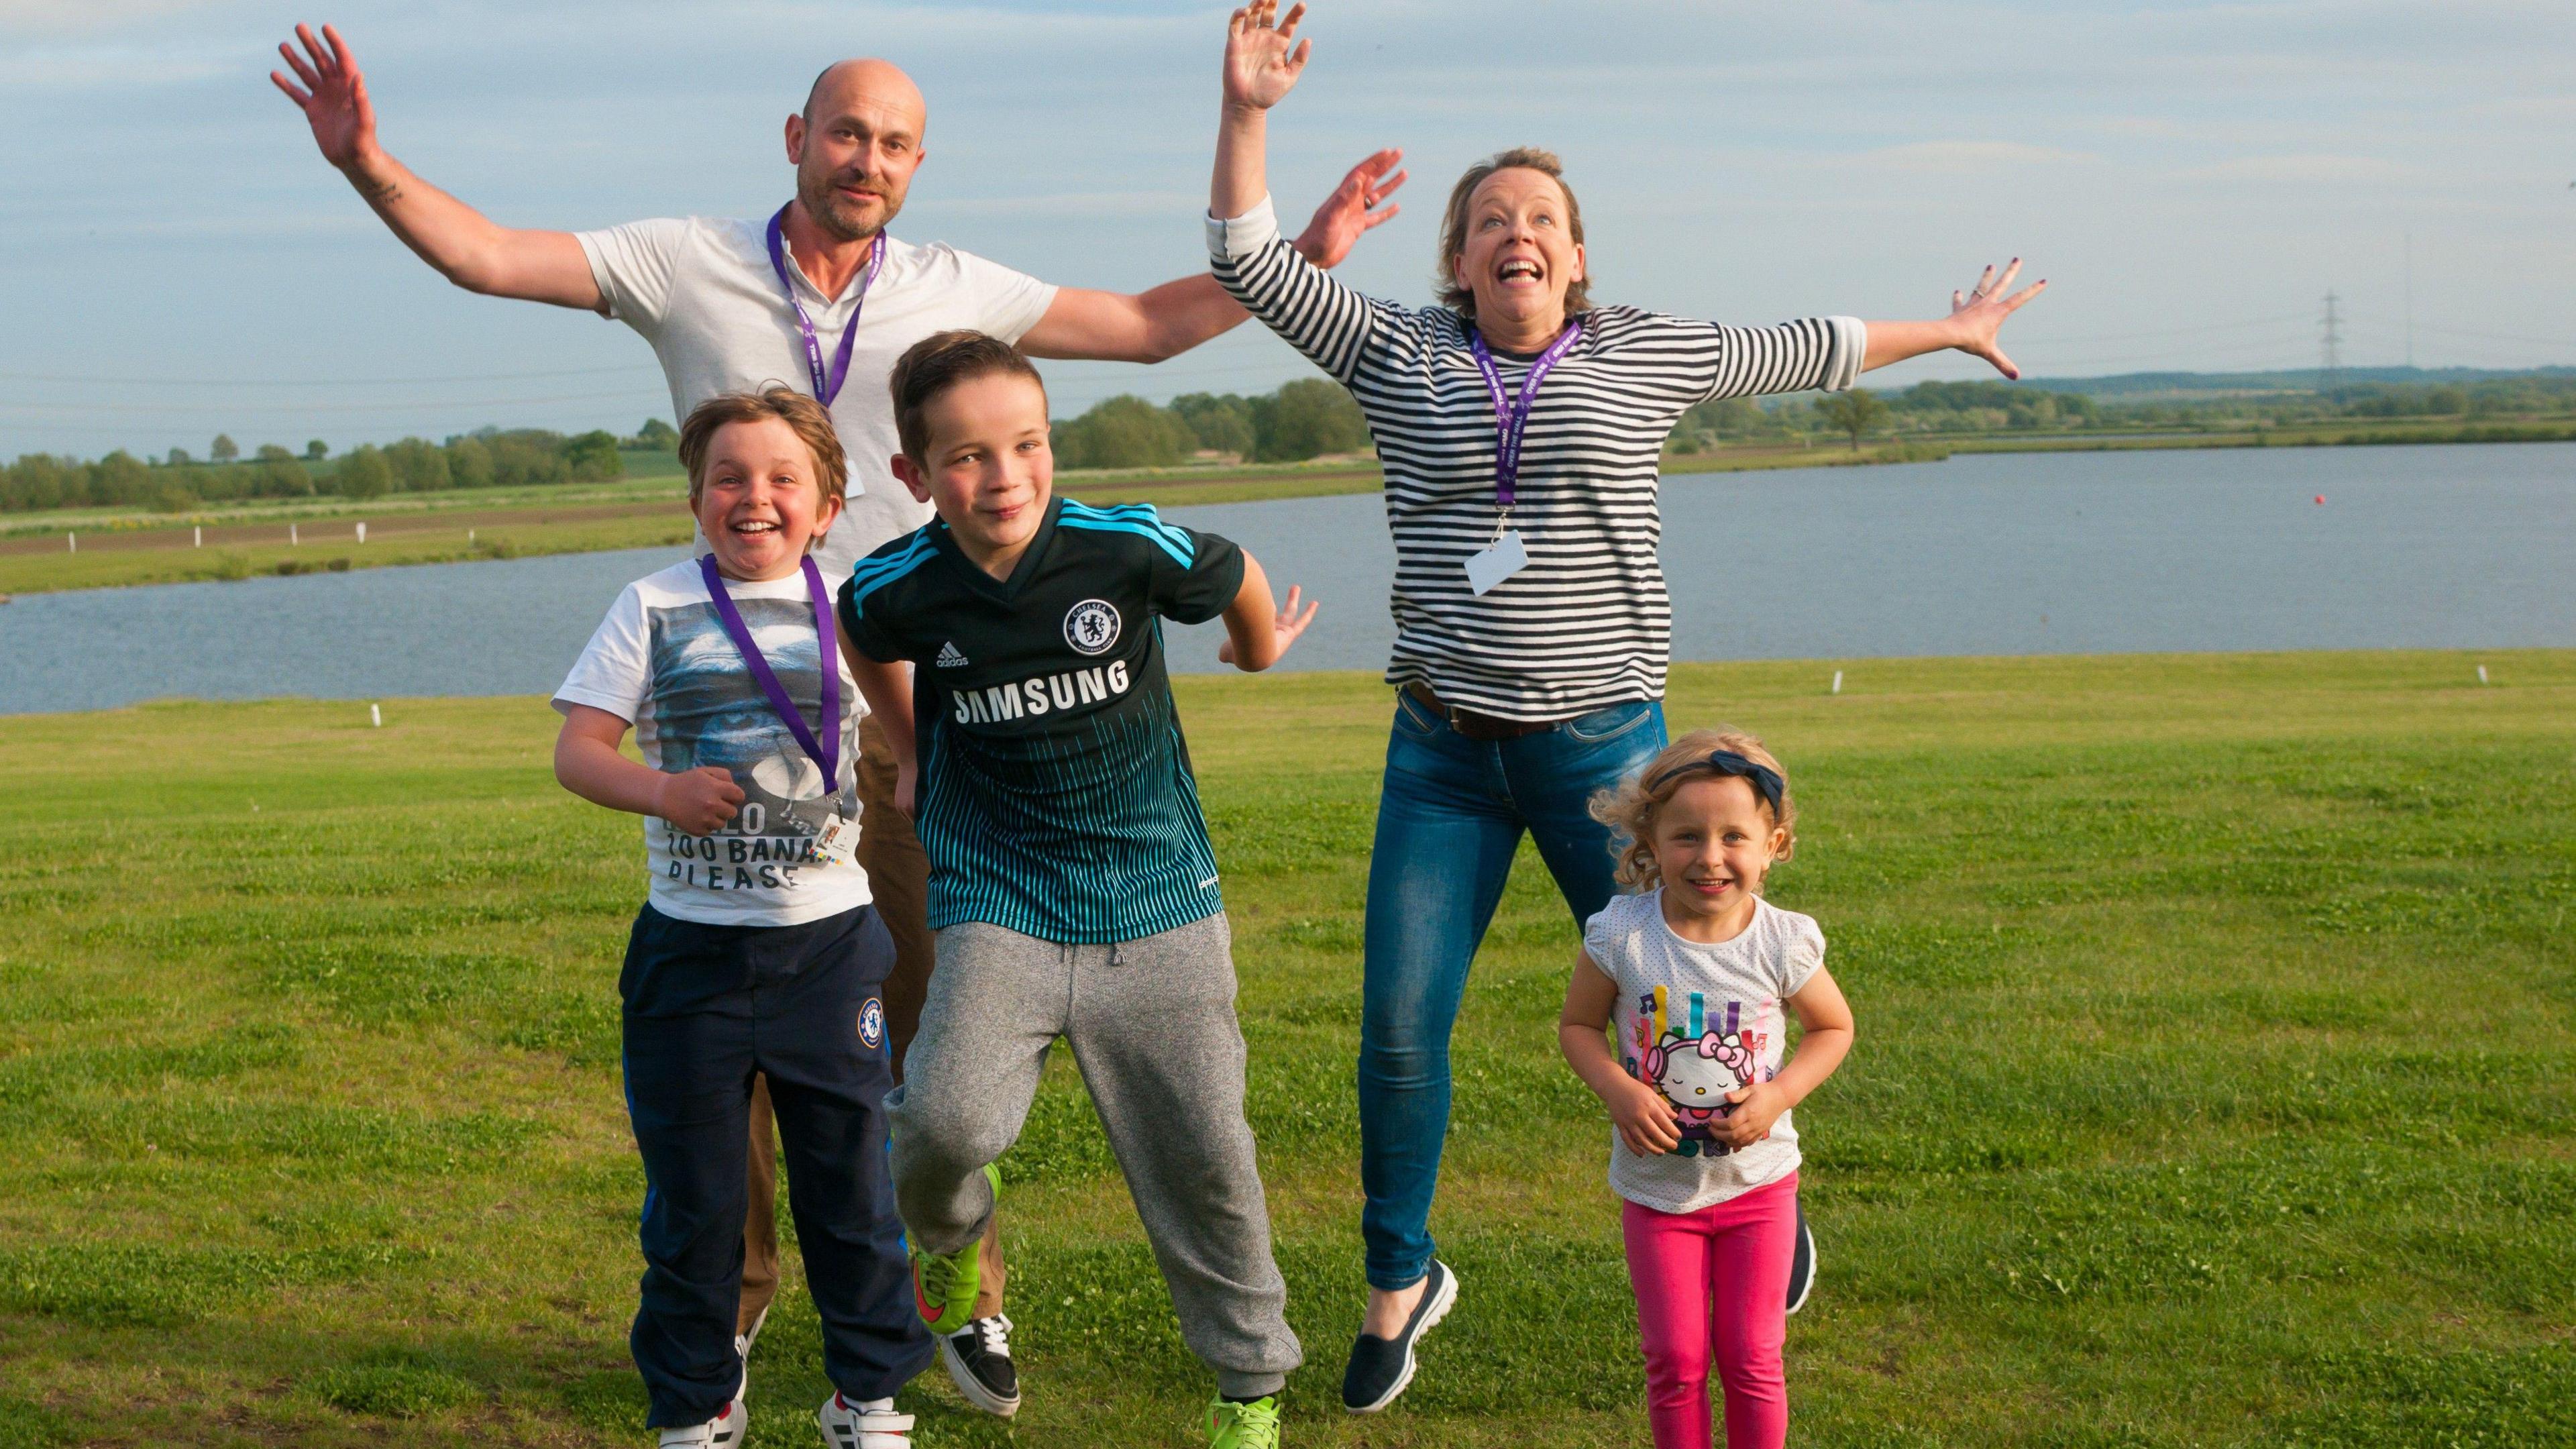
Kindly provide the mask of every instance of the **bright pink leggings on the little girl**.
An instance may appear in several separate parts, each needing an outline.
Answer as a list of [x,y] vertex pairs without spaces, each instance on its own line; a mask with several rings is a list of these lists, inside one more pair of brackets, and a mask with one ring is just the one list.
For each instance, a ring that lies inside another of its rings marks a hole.
[[1625,1204],[1628,1281],[1646,1338],[1654,1449],[1710,1449],[1708,1366],[1726,1387],[1726,1449],[1788,1444],[1788,1263],[1798,1173],[1700,1212]]

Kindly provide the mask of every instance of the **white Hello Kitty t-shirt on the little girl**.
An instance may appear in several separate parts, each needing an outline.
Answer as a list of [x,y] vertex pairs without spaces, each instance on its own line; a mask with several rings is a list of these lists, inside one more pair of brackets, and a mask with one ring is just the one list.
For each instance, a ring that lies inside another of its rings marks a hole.
[[1798,1129],[1780,1114],[1770,1137],[1744,1150],[1716,1140],[1726,1093],[1780,1075],[1788,1044],[1783,998],[1824,964],[1824,931],[1795,910],[1754,897],[1734,941],[1685,941],[1664,923],[1664,892],[1613,897],[1584,923],[1584,951],[1618,985],[1613,1049],[1628,1075],[1672,1104],[1682,1145],[1631,1152],[1610,1132],[1610,1191],[1656,1212],[1698,1212],[1798,1171]]

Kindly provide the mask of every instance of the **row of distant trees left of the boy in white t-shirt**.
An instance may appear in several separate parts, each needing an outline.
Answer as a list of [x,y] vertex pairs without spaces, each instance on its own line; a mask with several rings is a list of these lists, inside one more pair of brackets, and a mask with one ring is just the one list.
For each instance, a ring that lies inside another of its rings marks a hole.
[[[381,498],[386,492],[440,492],[448,487],[518,487],[551,482],[598,482],[626,474],[621,443],[636,443],[670,423],[647,423],[644,433],[621,441],[616,433],[549,433],[544,428],[484,428],[459,433],[446,443],[402,438],[386,446],[361,446],[330,456],[319,441],[304,454],[278,443],[250,459],[216,436],[214,456],[201,464],[183,449],[162,462],[144,462],[118,449],[95,462],[26,454],[0,467],[0,511],[33,508],[160,508],[185,513],[201,503],[245,498]],[[672,433],[672,438],[677,438]],[[227,456],[229,454],[229,456]]]

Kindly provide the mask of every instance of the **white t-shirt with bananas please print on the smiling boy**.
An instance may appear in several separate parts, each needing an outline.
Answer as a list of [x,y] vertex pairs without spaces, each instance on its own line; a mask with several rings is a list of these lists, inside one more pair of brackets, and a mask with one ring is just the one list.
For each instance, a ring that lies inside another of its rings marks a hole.
[[[822,719],[822,652],[804,572],[770,583],[726,580],[760,655],[804,714]],[[770,709],[742,650],[724,632],[698,559],[639,578],[574,660],[554,706],[587,704],[636,727],[657,771],[724,766],[742,807],[714,835],[683,835],[644,817],[652,908],[703,926],[799,926],[868,905],[868,871],[814,853],[824,820],[858,820],[858,719],[868,712],[840,660],[840,779],[822,779],[786,719]]]

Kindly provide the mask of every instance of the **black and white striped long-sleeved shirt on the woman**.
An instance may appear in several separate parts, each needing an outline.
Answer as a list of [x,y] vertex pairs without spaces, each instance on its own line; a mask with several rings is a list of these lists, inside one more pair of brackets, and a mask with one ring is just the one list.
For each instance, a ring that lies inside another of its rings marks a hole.
[[[1476,596],[1466,559],[1494,541],[1502,513],[1494,400],[1466,320],[1342,286],[1280,237],[1267,199],[1231,222],[1211,217],[1208,255],[1216,281],[1347,384],[1368,415],[1396,536],[1386,681],[1419,681],[1504,719],[1664,696],[1664,436],[1710,397],[1852,387],[1868,351],[1855,317],[1723,327],[1636,307],[1587,312],[1584,338],[1538,389],[1522,436],[1512,529],[1530,565]],[[1517,397],[1530,358],[1494,353],[1494,369]]]

